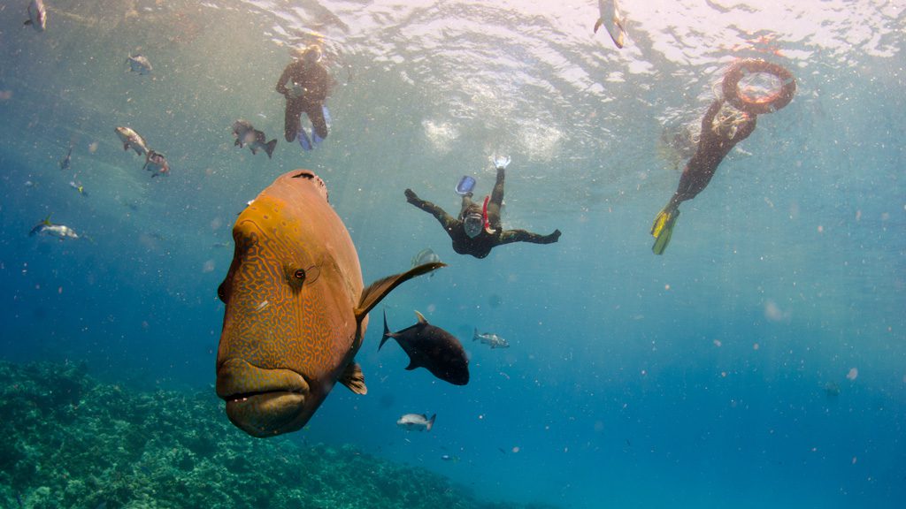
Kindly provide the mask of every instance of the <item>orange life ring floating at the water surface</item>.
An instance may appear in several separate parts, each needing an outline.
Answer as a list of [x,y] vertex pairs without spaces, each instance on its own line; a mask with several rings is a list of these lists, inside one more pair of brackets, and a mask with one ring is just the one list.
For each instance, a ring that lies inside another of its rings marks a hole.
[[[766,72],[774,74],[781,82],[780,90],[761,98],[753,98],[739,91],[739,80],[746,73]],[[724,99],[738,110],[746,111],[753,115],[771,113],[780,110],[790,101],[795,94],[795,78],[793,73],[782,65],[766,62],[764,60],[747,59],[734,63],[727,74],[724,75],[722,91]]]

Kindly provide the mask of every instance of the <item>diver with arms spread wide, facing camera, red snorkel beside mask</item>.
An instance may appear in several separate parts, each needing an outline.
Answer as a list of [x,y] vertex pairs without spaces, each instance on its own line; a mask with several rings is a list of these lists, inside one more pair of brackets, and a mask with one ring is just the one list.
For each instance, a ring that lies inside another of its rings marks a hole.
[[459,255],[484,258],[497,245],[514,242],[532,244],[554,244],[560,238],[560,230],[550,235],[538,235],[525,230],[504,230],[500,222],[500,205],[504,201],[504,171],[506,163],[497,164],[497,180],[494,191],[487,199],[487,223],[482,206],[472,201],[472,194],[462,197],[459,216],[453,217],[444,209],[419,198],[412,189],[406,189],[406,201],[435,216],[453,240],[453,250]]

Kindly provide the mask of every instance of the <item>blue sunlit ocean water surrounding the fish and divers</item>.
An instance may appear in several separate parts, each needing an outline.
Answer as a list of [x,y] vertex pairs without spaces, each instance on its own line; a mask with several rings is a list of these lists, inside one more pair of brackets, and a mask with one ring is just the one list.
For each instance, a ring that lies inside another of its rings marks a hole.
[[[593,34],[592,2],[46,4],[43,33],[22,26],[27,2],[0,7],[3,359],[86,360],[132,389],[213,395],[236,214],[311,168],[366,282],[424,247],[449,266],[371,313],[369,394],[334,390],[299,440],[490,500],[906,500],[906,7],[622,5],[621,51]],[[338,85],[330,137],[303,152],[283,140],[274,86],[289,49],[315,42]],[[130,53],[153,71],[129,72]],[[660,139],[697,124],[746,57],[794,72],[795,99],[758,118],[652,255],[651,220],[679,179]],[[279,139],[273,159],[233,147],[237,118]],[[141,171],[120,125],[171,174]],[[458,179],[489,193],[503,153],[505,226],[563,236],[457,255],[403,189],[455,212]],[[30,237],[46,216],[82,238]],[[457,335],[470,383],[403,370],[394,344],[379,353],[384,310],[393,330],[418,310]],[[471,341],[475,328],[511,347]],[[409,412],[437,413],[434,429],[396,427]]]

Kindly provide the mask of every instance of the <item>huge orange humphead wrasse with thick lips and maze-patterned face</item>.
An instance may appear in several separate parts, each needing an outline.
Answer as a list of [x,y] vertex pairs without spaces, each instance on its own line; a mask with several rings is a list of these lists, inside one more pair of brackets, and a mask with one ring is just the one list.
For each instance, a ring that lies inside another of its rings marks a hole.
[[236,219],[236,249],[217,295],[226,303],[217,396],[255,437],[301,429],[340,381],[366,392],[353,359],[368,312],[421,264],[363,288],[359,255],[313,172],[277,178]]

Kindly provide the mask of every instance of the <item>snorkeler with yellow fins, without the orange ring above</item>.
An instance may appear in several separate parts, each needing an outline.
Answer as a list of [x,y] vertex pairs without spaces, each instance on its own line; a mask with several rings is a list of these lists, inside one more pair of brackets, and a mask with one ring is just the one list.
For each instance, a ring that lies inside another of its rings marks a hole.
[[651,226],[651,235],[657,239],[651,248],[655,255],[662,255],[670,243],[673,225],[679,217],[679,204],[696,197],[708,187],[714,172],[718,169],[720,161],[736,144],[755,130],[756,116],[751,113],[740,112],[741,120],[725,121],[720,119],[715,125],[714,120],[723,107],[724,101],[714,101],[701,120],[701,135],[699,147],[695,155],[686,163],[679,178],[676,193],[670,197],[670,202],[660,211]]

